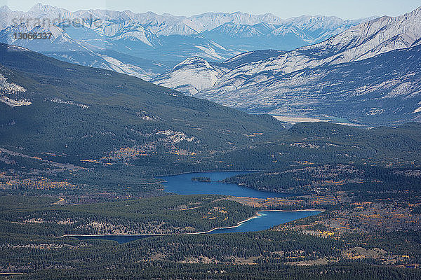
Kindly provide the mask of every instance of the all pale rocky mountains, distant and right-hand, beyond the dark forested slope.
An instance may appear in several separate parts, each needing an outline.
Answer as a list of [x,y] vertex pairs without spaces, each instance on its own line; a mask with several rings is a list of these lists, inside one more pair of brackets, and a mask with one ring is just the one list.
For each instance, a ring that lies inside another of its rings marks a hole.
[[[360,125],[421,118],[421,7],[395,18],[352,21],[70,12],[37,4],[26,13],[0,8],[0,29],[0,41],[249,113]],[[15,40],[15,32],[29,31],[53,36]]]

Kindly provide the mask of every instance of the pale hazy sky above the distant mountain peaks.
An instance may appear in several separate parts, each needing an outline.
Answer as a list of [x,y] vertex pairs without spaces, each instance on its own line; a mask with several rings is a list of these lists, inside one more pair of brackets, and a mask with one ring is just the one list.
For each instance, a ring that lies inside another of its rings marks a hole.
[[[0,0],[0,6],[12,10],[29,10],[38,1]],[[173,15],[196,15],[206,12],[273,13],[280,18],[298,15],[336,15],[355,19],[373,15],[402,15],[421,6],[421,0],[44,0],[41,3],[80,10],[105,8],[109,10],[132,10],[143,13],[171,13]]]

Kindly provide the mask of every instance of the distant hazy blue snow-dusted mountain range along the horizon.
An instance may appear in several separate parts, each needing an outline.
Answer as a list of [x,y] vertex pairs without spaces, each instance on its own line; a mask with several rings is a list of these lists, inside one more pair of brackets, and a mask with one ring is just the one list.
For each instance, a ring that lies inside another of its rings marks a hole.
[[[366,20],[322,15],[283,20],[269,13],[240,12],[191,17],[130,10],[71,12],[38,3],[27,12],[0,8],[0,42],[151,80],[187,57],[223,62],[252,50],[293,50]],[[14,34],[18,32],[51,32],[53,36],[51,40],[17,40]]]

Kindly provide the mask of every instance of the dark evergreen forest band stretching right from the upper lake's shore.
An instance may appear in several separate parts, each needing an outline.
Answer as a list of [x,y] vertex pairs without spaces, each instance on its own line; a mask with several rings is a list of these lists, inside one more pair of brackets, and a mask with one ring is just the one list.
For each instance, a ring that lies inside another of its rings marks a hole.
[[393,169],[367,165],[311,165],[272,169],[225,179],[226,183],[278,193],[332,191],[420,191],[419,169]]

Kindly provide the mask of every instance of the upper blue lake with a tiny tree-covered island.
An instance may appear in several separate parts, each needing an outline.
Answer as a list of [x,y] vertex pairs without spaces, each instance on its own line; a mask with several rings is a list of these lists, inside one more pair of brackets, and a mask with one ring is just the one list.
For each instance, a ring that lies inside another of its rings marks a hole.
[[[173,176],[161,176],[167,193],[178,195],[232,195],[234,197],[288,197],[283,193],[268,193],[245,188],[236,184],[220,183],[219,181],[239,174],[251,172],[199,172]],[[193,177],[209,177],[211,182],[192,181]]]

